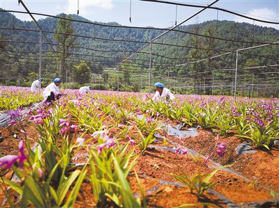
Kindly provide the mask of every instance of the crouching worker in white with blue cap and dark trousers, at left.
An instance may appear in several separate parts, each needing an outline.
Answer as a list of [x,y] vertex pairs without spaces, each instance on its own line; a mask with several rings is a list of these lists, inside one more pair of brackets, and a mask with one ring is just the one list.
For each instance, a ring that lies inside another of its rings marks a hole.
[[43,91],[43,97],[46,102],[52,102],[55,99],[59,99],[61,96],[61,93],[59,92],[61,82],[61,79],[55,78],[53,82],[45,88]]

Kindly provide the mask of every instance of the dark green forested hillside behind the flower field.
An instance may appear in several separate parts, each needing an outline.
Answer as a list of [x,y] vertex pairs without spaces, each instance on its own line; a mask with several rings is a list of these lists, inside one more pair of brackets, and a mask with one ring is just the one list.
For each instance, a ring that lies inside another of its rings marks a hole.
[[[63,14],[58,16],[64,17]],[[77,15],[72,15],[72,17],[73,19],[89,22],[89,20]],[[22,22],[11,13],[6,12],[0,13],[0,19],[0,35],[2,40],[0,43],[1,47],[5,48],[4,50],[1,49],[0,58],[2,63],[6,63],[5,65],[1,64],[2,75],[6,74],[6,77],[22,78],[31,72],[37,72],[39,33],[36,24],[33,22]],[[59,19],[54,17],[38,20],[48,40],[52,43],[56,43],[54,34],[47,32],[56,32],[56,24],[58,22]],[[79,59],[84,59],[89,65],[91,72],[96,74],[102,73],[104,67],[115,67],[123,58],[130,56],[130,54],[133,54],[133,51],[137,51],[137,49],[142,47],[145,42],[149,42],[152,38],[163,33],[163,31],[155,29],[100,26],[100,24],[120,26],[116,22],[93,23],[99,25],[81,22],[73,22],[72,24],[75,29],[75,35],[78,36],[75,36],[75,47],[71,49],[72,55],[70,55],[67,62],[69,72],[73,70],[73,65],[80,62]],[[148,26],[148,22],[146,22],[146,26]],[[32,29],[35,31],[17,29]],[[167,73],[171,73],[172,76],[188,73],[199,74],[206,70],[234,68],[235,52],[183,67],[174,67],[174,65],[191,63],[202,58],[209,58],[229,51],[235,51],[236,49],[261,45],[266,42],[279,41],[279,31],[276,29],[231,21],[209,21],[202,24],[180,26],[177,30],[183,32],[172,31],[153,42],[151,53],[154,76],[156,74],[165,74],[167,76]],[[10,42],[7,42],[8,40]],[[43,57],[43,68],[45,69],[43,73],[50,75],[54,73],[54,68],[59,68],[55,53],[52,51],[52,48],[56,50],[56,45],[53,45],[51,48],[46,44],[45,40],[44,42],[43,51],[46,57]],[[20,51],[22,53],[19,53]],[[36,53],[31,56],[31,52]],[[131,72],[137,72],[140,69],[146,71],[149,67],[149,47],[146,47],[141,52],[131,59],[129,66],[122,65],[121,69],[124,70],[124,67],[126,67]],[[54,57],[50,58],[47,56]],[[278,45],[271,45],[240,52],[238,63],[239,67],[275,65],[278,63],[278,57]],[[10,65],[10,63],[13,63],[13,65]],[[172,68],[165,70],[169,66],[172,66]],[[256,77],[260,76],[257,73],[262,72],[262,70],[254,71]],[[246,72],[248,71],[241,71],[243,74]],[[57,73],[56,75],[59,75]],[[193,79],[197,81],[202,79],[202,77],[197,75]]]

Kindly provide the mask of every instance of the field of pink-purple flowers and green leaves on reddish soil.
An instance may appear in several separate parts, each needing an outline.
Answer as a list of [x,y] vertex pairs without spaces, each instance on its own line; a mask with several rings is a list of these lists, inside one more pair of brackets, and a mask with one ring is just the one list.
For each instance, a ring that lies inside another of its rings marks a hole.
[[1,88],[2,206],[278,207],[278,99],[151,97]]

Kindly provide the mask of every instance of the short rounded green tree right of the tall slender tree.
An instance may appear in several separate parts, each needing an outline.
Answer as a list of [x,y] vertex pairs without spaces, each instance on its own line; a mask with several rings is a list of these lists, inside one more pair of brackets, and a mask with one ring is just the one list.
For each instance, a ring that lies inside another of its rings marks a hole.
[[85,61],[73,67],[73,79],[77,83],[89,83],[90,69]]

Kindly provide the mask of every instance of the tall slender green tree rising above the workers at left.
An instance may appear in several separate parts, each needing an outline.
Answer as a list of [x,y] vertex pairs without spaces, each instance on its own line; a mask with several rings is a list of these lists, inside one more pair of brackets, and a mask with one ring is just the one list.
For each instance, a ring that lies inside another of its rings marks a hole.
[[[70,15],[64,15],[68,19],[73,19]],[[58,50],[58,59],[61,64],[61,79],[67,81],[67,66],[66,58],[70,56],[70,52],[73,46],[75,46],[75,29],[71,21],[66,19],[59,19],[59,22],[56,24],[57,33],[54,34],[54,40],[57,41],[59,46]]]

